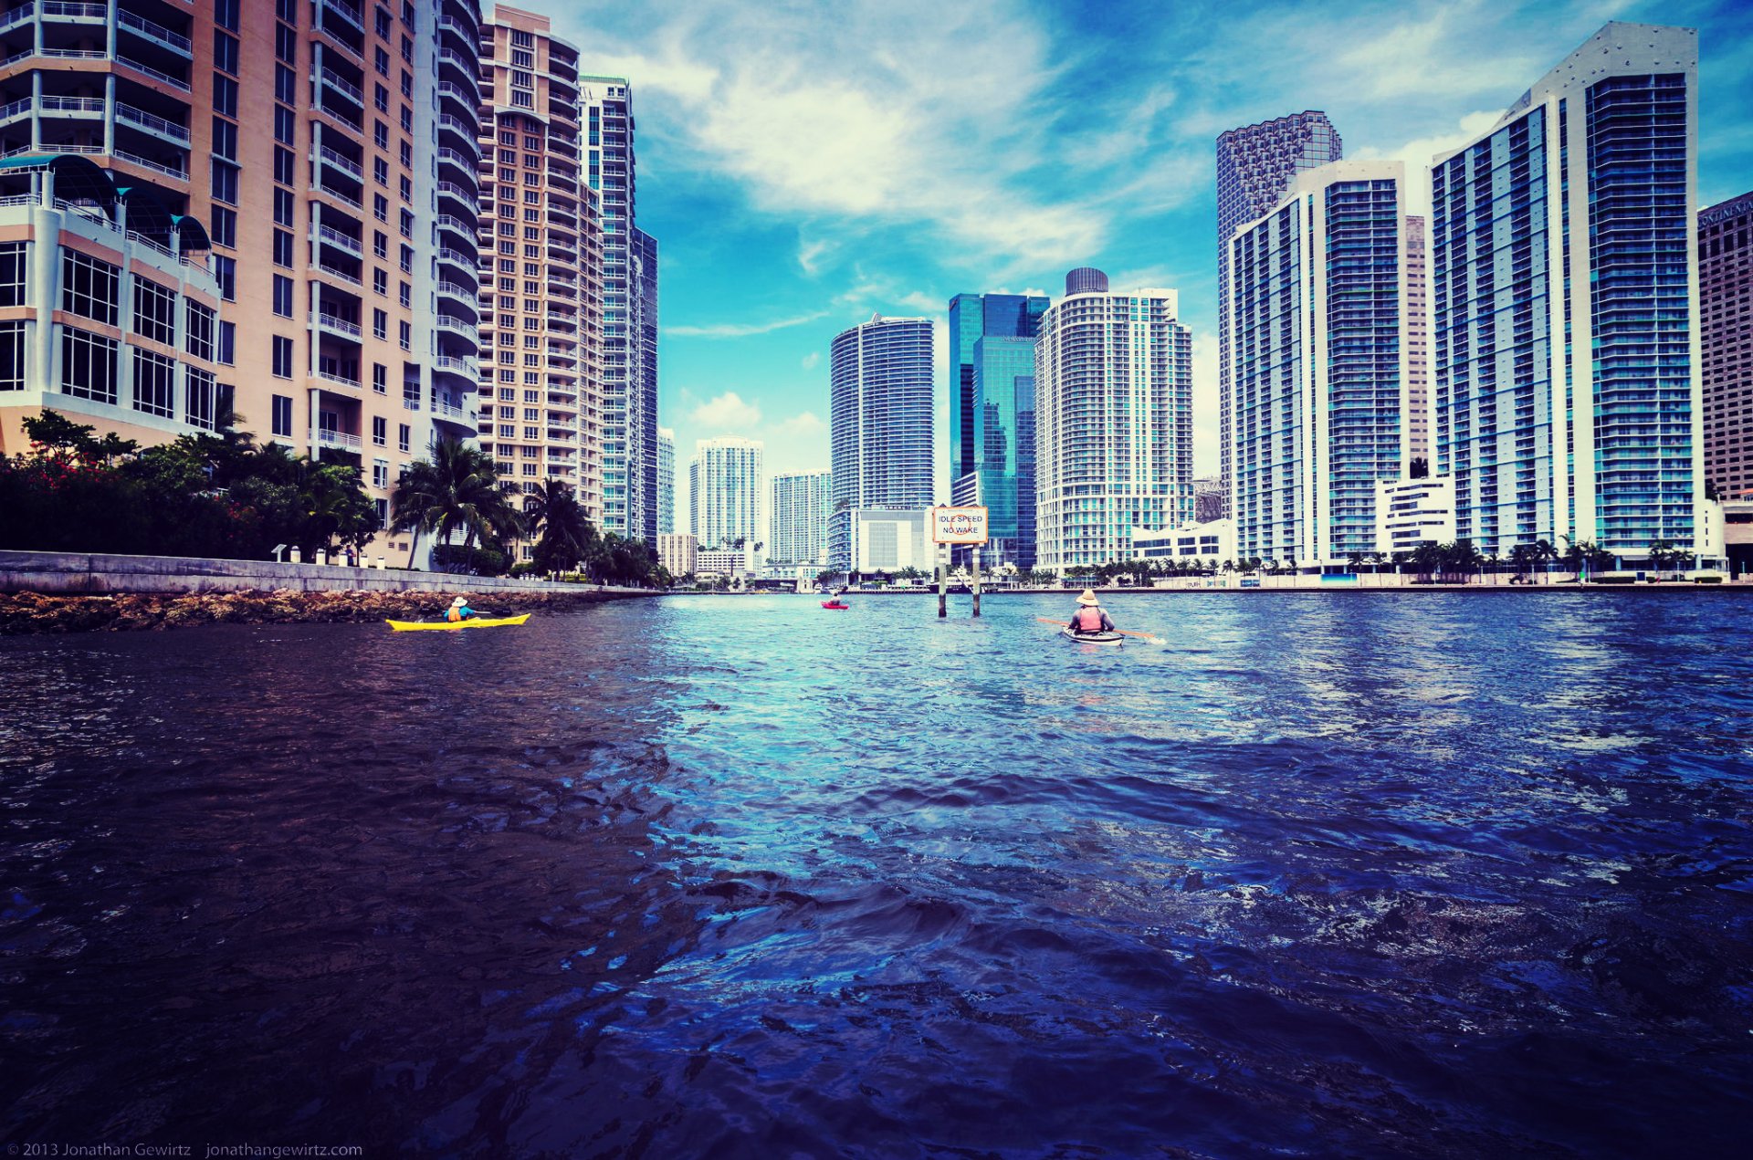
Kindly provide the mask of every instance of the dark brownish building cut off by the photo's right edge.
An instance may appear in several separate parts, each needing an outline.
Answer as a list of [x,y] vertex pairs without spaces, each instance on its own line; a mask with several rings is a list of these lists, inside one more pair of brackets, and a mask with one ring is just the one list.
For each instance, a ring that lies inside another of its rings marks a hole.
[[1699,214],[1704,477],[1753,494],[1753,193]]

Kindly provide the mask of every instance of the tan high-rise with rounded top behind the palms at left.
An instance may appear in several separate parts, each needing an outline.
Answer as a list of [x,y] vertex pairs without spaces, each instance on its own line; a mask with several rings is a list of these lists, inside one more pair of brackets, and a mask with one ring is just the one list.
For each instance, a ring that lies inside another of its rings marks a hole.
[[570,484],[600,524],[603,237],[580,180],[578,51],[500,5],[479,56],[480,447],[526,494]]

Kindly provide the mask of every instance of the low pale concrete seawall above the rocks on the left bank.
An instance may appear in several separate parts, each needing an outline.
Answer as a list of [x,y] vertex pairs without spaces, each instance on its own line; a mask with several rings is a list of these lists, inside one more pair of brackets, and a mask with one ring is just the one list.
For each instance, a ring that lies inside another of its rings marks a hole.
[[0,592],[93,596],[112,592],[596,592],[605,598],[656,596],[647,589],[549,584],[508,576],[456,576],[401,568],[277,564],[188,555],[102,555],[86,552],[0,552]]

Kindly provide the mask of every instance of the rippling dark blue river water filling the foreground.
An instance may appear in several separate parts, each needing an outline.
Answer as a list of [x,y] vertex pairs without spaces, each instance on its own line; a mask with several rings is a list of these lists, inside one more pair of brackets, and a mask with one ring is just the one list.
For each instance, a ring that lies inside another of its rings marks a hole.
[[852,599],[0,641],[0,1135],[1746,1144],[1748,598]]

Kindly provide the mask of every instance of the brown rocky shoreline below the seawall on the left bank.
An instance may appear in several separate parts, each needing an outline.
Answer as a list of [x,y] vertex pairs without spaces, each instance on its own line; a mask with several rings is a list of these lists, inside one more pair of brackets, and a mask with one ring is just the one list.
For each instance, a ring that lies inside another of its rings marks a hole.
[[484,610],[564,610],[615,599],[607,592],[121,592],[114,596],[0,594],[0,636],[37,633],[128,633],[196,624],[349,624],[436,620],[452,596]]

